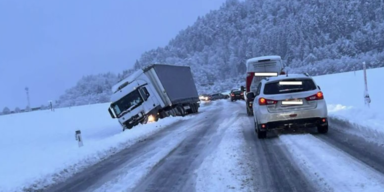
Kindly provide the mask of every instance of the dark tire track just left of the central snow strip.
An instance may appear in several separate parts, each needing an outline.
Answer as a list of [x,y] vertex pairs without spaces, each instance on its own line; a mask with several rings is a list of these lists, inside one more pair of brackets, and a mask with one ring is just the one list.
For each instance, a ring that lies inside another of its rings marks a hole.
[[194,191],[194,170],[217,147],[225,131],[220,129],[220,124],[228,113],[222,109],[218,111],[201,122],[202,126],[167,155],[133,191]]

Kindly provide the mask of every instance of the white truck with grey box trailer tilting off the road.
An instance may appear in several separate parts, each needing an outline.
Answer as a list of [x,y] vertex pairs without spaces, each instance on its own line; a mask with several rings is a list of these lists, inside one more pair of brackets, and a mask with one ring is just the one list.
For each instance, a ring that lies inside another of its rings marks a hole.
[[154,64],[112,87],[108,109],[125,129],[168,116],[197,113],[199,95],[188,66]]

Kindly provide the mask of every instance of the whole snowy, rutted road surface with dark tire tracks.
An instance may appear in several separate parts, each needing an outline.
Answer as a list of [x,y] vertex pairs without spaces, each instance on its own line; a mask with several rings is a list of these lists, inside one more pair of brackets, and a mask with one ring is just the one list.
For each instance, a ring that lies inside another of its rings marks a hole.
[[244,102],[215,101],[47,191],[382,191],[384,147],[343,132],[259,140]]

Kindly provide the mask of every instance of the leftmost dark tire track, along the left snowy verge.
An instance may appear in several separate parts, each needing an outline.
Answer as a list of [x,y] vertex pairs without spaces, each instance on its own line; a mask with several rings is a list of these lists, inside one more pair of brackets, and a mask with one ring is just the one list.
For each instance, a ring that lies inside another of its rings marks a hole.
[[[220,103],[215,103],[214,105],[212,105],[212,108],[209,108],[209,110],[204,110],[204,112],[196,114],[194,116],[201,116],[201,114],[204,114],[205,112],[209,112],[210,110],[216,109],[217,106],[220,106]],[[112,155],[107,159],[104,159],[103,161],[86,169],[85,171],[75,174],[73,177],[69,178],[64,183],[58,183],[49,187],[48,189],[46,189],[46,191],[93,191],[95,187],[97,188],[98,186],[102,186],[104,183],[108,183],[109,185],[112,185],[114,183],[116,184],[116,181],[113,179],[118,178],[119,174],[121,174],[121,170],[126,171],[127,166],[132,167],[132,165],[142,163],[142,157],[149,158],[151,157],[151,155],[156,155],[156,153],[158,152],[156,149],[159,147],[157,143],[159,141],[166,140],[165,138],[168,138],[172,135],[178,136],[182,132],[187,131],[187,129],[180,130],[180,127],[185,124],[190,124],[191,122],[193,123],[193,118],[188,118],[185,121],[178,121],[168,126],[164,130],[161,130],[160,132],[139,141],[138,143]],[[174,143],[172,142],[164,142],[162,144],[174,145]],[[149,167],[154,166],[153,162],[147,162],[147,164],[147,166]],[[138,172],[137,174],[135,174],[135,172],[133,171]],[[132,176],[134,177],[133,180],[130,179],[129,182],[134,182],[135,180],[140,179],[137,177],[143,176],[142,174],[139,174],[142,173],[143,170],[135,170],[134,168],[132,168],[132,172],[129,172],[133,173]],[[107,190],[107,188],[105,189]]]

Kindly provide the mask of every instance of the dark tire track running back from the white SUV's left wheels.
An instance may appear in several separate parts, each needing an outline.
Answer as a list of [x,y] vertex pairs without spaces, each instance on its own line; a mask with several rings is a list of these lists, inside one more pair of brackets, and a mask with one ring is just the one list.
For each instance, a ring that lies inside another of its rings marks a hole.
[[316,191],[285,153],[288,149],[279,138],[271,138],[270,134],[266,139],[257,138],[253,117],[244,118],[243,135],[249,152],[245,162],[252,171],[254,191]]

